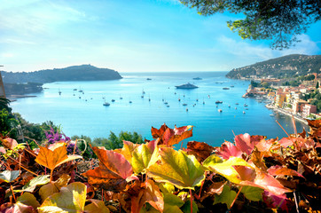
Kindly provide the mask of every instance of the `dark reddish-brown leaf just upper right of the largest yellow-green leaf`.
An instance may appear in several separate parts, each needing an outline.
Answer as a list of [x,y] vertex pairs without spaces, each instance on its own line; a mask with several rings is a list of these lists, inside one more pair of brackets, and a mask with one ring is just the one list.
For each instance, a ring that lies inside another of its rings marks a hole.
[[215,150],[215,147],[204,142],[190,141],[187,143],[187,154],[193,154],[199,162],[203,162]]

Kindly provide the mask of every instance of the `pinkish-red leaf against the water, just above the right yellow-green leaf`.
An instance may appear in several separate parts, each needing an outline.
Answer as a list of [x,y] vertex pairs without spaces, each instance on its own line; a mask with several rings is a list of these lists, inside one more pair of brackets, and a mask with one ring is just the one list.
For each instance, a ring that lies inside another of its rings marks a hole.
[[235,145],[244,153],[251,154],[254,146],[260,142],[263,136],[250,136],[249,134],[240,134],[235,137]]

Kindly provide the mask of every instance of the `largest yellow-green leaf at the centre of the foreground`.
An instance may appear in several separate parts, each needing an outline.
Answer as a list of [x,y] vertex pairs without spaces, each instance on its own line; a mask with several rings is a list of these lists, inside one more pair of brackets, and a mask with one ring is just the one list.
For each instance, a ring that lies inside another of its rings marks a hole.
[[147,169],[148,176],[155,181],[169,182],[180,189],[193,189],[205,178],[204,170],[195,156],[168,147],[160,148],[159,154],[160,161]]

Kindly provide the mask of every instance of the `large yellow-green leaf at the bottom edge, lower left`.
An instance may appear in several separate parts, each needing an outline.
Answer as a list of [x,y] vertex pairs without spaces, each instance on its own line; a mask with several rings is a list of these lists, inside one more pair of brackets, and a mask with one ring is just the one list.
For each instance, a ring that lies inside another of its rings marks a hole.
[[39,212],[82,212],[86,201],[86,185],[74,182],[67,187],[62,187],[60,193],[48,197]]

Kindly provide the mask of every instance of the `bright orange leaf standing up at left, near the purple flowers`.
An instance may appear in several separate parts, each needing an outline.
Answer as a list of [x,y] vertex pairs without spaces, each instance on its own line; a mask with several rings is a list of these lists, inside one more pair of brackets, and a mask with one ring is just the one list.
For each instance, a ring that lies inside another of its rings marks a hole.
[[[59,145],[62,144],[62,145]],[[47,147],[40,146],[39,154],[35,158],[35,162],[47,167],[50,170],[54,170],[62,163],[73,161],[75,159],[82,158],[80,155],[67,155],[67,147],[64,143],[57,143],[55,147],[49,149]]]

